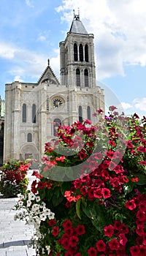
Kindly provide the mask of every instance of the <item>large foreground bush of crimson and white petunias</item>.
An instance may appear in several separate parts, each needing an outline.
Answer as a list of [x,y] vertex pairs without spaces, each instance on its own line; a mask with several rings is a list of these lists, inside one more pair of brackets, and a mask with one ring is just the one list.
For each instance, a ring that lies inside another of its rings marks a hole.
[[31,192],[16,218],[34,223],[37,255],[146,255],[146,118],[110,106],[60,127],[45,144]]

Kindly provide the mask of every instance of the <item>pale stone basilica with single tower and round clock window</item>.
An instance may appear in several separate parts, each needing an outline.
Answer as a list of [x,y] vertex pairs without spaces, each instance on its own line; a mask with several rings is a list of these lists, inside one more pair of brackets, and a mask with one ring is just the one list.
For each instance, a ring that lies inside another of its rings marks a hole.
[[58,125],[90,119],[104,110],[104,91],[96,82],[93,34],[74,15],[60,47],[60,81],[50,61],[37,83],[14,81],[5,86],[3,162],[40,161],[45,143],[56,138]]

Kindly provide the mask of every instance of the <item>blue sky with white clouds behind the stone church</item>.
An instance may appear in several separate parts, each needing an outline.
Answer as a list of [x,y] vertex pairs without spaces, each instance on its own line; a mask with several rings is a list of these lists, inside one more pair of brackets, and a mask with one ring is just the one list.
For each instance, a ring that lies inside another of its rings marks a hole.
[[145,0],[1,0],[1,98],[5,83],[36,83],[47,59],[59,78],[58,44],[78,7],[94,34],[96,78],[112,91],[110,102],[106,91],[106,106],[118,99],[126,114],[146,115]]

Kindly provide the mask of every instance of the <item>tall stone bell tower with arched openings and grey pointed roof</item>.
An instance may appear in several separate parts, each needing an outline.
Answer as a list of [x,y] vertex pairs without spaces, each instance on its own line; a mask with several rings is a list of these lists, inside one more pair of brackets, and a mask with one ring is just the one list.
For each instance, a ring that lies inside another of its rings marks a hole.
[[60,42],[61,85],[66,87],[94,88],[96,67],[94,60],[93,34],[88,34],[80,20],[80,13],[74,14],[72,26],[64,42]]

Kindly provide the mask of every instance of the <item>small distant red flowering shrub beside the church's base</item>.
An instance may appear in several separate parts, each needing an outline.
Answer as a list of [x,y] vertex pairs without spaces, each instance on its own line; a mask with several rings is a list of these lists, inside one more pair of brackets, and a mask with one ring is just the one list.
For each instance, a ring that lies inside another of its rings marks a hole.
[[28,185],[26,178],[28,162],[9,160],[1,167],[0,192],[4,197],[24,194]]

